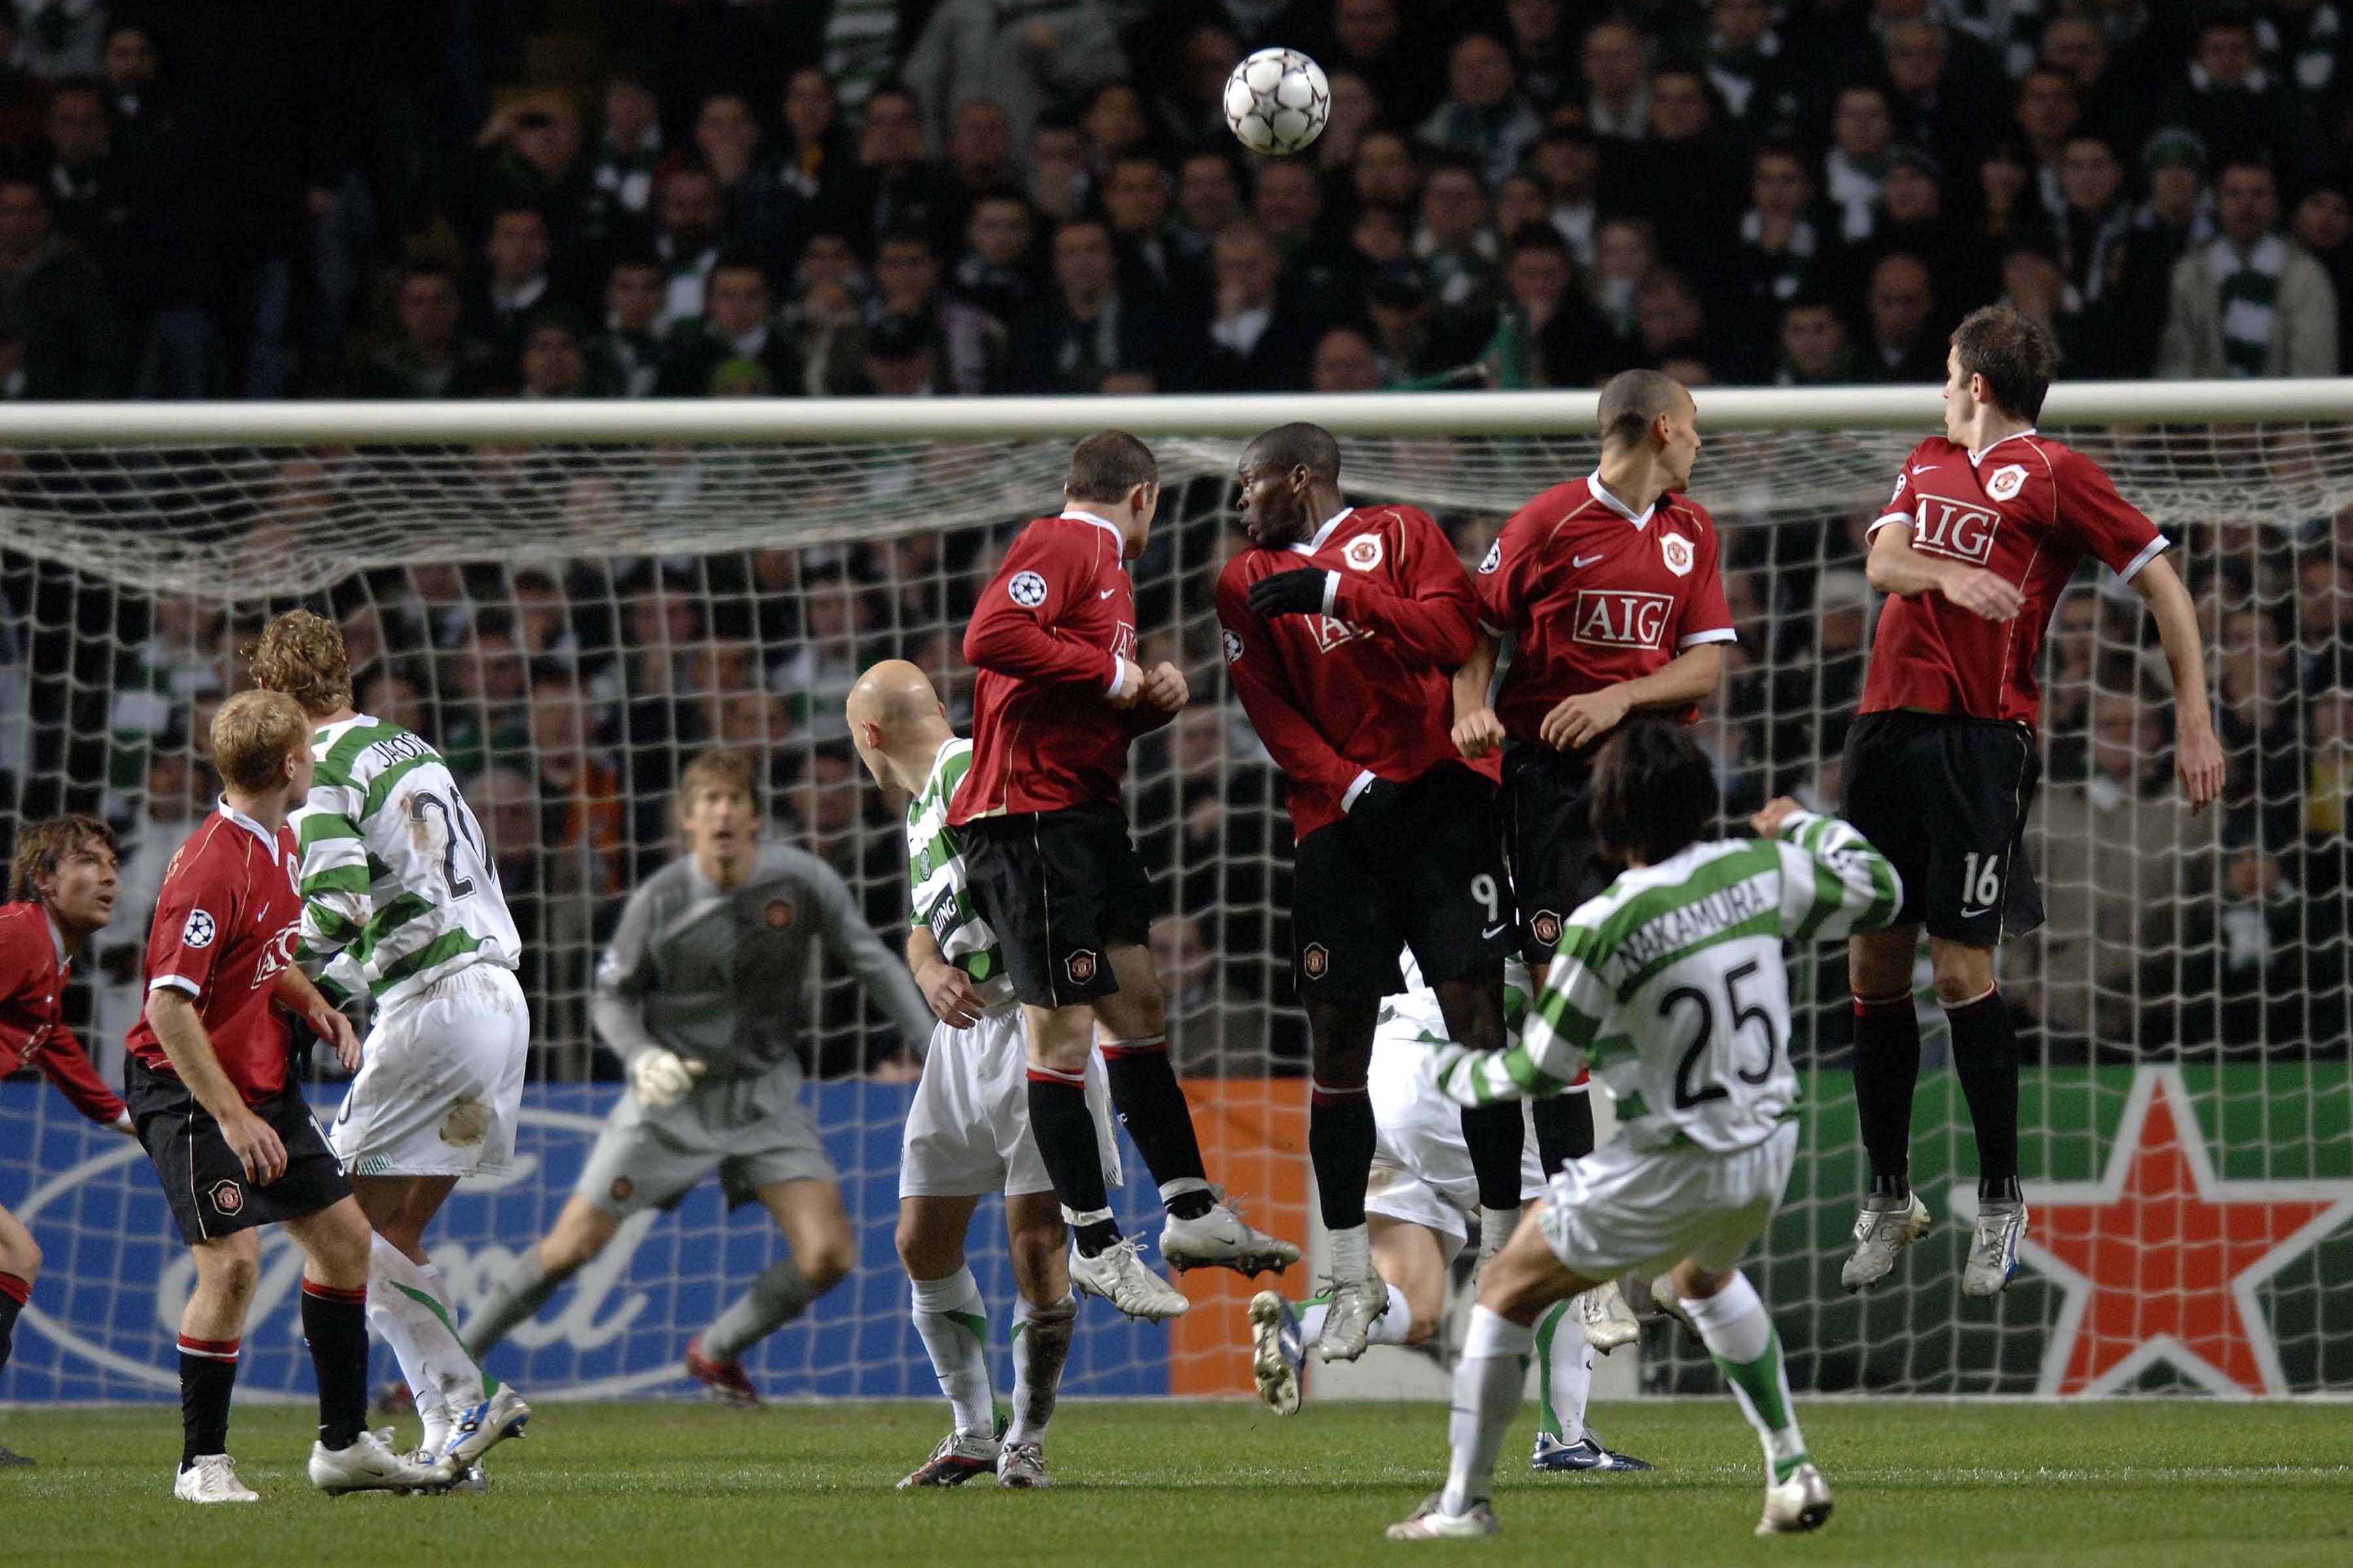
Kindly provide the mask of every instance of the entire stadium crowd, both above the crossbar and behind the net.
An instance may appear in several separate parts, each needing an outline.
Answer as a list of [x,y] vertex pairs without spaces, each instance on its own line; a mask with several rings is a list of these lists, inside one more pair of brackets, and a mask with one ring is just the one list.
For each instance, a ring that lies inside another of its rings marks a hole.
[[[449,16],[468,21],[0,7],[0,393],[1372,390],[1628,364],[1694,386],[1937,381],[1951,322],[1993,299],[2054,327],[2071,378],[2339,367],[2353,85],[2327,0]],[[1217,110],[1261,42],[1332,73],[1332,127],[1297,160],[1242,158]],[[504,89],[534,80],[555,85]],[[534,461],[529,484],[576,480],[562,454]],[[511,480],[482,465],[485,487]],[[339,484],[287,461],[209,522],[268,550]],[[1704,736],[1729,813],[1835,799],[1868,651],[1871,508],[1777,505],[1798,510],[1718,510],[1741,651]],[[1198,696],[1139,748],[1134,811],[1174,1039],[1195,1072],[1299,1070],[1280,783],[1221,701],[1209,611],[1240,536],[1214,480],[1165,510],[1139,621]],[[1499,515],[1442,522],[1475,564]],[[431,736],[485,818],[544,1072],[600,1070],[595,943],[673,851],[666,788],[701,745],[765,748],[779,830],[878,929],[904,922],[894,802],[859,773],[840,701],[906,656],[962,722],[960,628],[1002,538],[416,564],[332,595],[360,708]],[[2346,1030],[2353,527],[2181,543],[2228,809],[2191,823],[2177,804],[2153,635],[2129,595],[2082,585],[2047,663],[2052,924],[2005,959],[2054,1060],[2301,1056]],[[136,1009],[155,846],[209,802],[195,748],[268,609],[0,555],[0,830],[96,804],[127,835],[120,931],[80,1004],[101,1046]],[[821,1067],[894,1058],[835,990]],[[1833,959],[1807,1025],[1824,1060],[1845,1048],[1842,992]]]

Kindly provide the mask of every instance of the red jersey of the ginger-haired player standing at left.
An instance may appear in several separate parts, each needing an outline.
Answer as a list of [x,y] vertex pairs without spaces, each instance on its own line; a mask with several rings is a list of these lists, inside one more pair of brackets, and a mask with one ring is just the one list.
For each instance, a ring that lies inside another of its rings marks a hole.
[[[172,856],[148,929],[146,987],[195,997],[212,1053],[247,1105],[287,1086],[287,1023],[273,1006],[278,973],[301,936],[294,830],[261,830],[224,799]],[[172,1060],[146,1016],[125,1039],[129,1053],[165,1077]]]

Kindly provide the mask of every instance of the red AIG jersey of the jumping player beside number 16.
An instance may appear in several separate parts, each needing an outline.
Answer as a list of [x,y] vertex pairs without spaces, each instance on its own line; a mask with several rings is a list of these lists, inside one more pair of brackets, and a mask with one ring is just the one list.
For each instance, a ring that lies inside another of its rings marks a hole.
[[1513,512],[1475,585],[1480,625],[1511,637],[1494,717],[1513,741],[1541,743],[1537,726],[1562,698],[1737,639],[1715,520],[1675,494],[1633,512],[1602,489],[1600,473]]

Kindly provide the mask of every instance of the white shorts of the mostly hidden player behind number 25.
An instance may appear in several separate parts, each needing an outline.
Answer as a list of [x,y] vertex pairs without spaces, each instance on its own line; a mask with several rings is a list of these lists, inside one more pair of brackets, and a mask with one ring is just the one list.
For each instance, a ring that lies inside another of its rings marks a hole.
[[[1412,1023],[1384,1023],[1372,1037],[1372,1121],[1379,1138],[1365,1182],[1365,1213],[1438,1232],[1452,1251],[1471,1244],[1478,1173],[1464,1143],[1461,1107],[1421,1077],[1433,1046]],[[1574,1091],[1584,1093],[1584,1088]],[[1522,1117],[1520,1199],[1544,1197],[1537,1128]]]

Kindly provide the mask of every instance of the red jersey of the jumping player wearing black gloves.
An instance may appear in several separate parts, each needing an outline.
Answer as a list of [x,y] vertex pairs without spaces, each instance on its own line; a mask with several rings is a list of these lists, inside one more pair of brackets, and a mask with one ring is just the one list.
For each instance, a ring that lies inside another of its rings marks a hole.
[[[1252,583],[1299,569],[1325,574],[1325,614],[1249,609]],[[1372,778],[1409,783],[1461,762],[1449,675],[1471,656],[1478,602],[1428,512],[1358,505],[1297,545],[1242,550],[1217,578],[1217,618],[1301,839],[1346,816]]]

